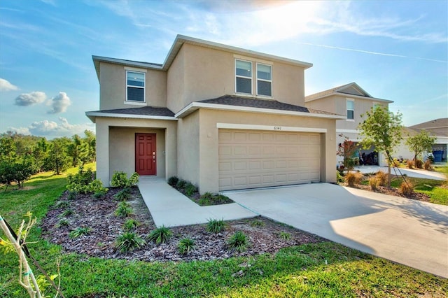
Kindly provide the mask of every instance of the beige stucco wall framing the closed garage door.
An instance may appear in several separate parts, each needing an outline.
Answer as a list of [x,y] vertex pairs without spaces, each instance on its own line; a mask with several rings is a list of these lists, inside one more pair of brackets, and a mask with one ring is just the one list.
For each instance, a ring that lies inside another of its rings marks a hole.
[[[200,111],[196,113],[199,114],[198,119],[200,120],[200,159],[197,184],[200,184],[201,193],[218,191],[218,128],[216,128],[216,123],[328,129],[327,133],[322,134],[321,136],[321,143],[325,146],[323,154],[321,155],[321,180],[323,182],[336,181],[335,120],[290,115],[214,111],[207,109],[200,109]],[[195,115],[195,118],[197,118],[197,115]],[[179,158],[179,161],[180,160],[181,159]],[[181,162],[179,162],[179,164],[181,164]]]

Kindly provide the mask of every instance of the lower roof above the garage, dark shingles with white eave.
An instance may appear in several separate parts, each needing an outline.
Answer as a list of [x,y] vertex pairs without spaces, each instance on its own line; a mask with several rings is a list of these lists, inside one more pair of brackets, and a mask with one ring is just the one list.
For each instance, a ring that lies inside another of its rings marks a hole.
[[304,106],[285,104],[283,102],[270,99],[255,99],[252,97],[239,97],[235,95],[224,95],[215,99],[193,101],[191,104],[179,111],[179,113],[176,113],[176,118],[183,118],[199,108],[345,119],[345,116],[343,115],[318,111],[312,108],[306,108]]

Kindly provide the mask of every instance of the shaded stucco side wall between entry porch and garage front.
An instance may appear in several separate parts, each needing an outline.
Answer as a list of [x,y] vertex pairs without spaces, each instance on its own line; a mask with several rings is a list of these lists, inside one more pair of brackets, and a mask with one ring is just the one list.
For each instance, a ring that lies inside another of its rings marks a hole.
[[198,111],[179,119],[177,130],[177,174],[179,178],[200,183],[200,113]]

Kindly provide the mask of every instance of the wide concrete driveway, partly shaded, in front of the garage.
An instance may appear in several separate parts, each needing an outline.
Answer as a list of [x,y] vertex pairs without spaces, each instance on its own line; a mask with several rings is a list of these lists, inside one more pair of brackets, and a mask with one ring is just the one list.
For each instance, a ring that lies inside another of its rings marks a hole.
[[225,195],[267,218],[448,278],[448,206],[328,183]]

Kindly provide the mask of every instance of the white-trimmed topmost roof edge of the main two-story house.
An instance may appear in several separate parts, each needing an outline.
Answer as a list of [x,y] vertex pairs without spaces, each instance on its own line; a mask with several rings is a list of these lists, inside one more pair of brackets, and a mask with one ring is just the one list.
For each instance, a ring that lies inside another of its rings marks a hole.
[[169,49],[168,55],[165,58],[165,62],[163,62],[163,64],[139,62],[139,61],[133,61],[133,60],[127,60],[127,59],[117,59],[117,58],[93,55],[92,59],[93,59],[93,64],[95,66],[95,70],[97,71],[97,77],[99,78],[99,62],[109,62],[109,63],[120,64],[120,65],[125,65],[125,66],[144,67],[146,69],[167,71],[169,69],[169,66],[171,66],[172,62],[174,61],[174,58],[176,58],[176,55],[179,53],[179,50],[181,50],[182,45],[184,43],[188,43],[190,45],[199,45],[204,48],[212,48],[215,50],[222,50],[225,52],[232,52],[235,54],[246,55],[246,56],[256,57],[256,58],[260,58],[260,59],[269,59],[270,61],[274,61],[274,62],[277,61],[277,62],[283,62],[286,64],[293,64],[296,66],[301,66],[304,69],[308,69],[309,67],[313,66],[313,64],[308,63],[308,62],[302,62],[299,60],[289,59],[286,57],[269,55],[269,54],[265,54],[262,52],[255,52],[253,50],[237,48],[232,45],[225,45],[223,43],[215,43],[213,41],[205,41],[204,39],[199,39],[199,38],[194,38],[194,37],[178,34],[176,36],[176,39],[174,40],[172,47]]

